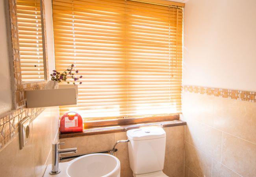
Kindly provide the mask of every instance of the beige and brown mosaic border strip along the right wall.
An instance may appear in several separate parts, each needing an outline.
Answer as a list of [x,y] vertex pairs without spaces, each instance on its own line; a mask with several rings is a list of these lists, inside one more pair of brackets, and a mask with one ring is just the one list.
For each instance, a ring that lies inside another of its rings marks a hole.
[[217,96],[217,97],[234,99],[234,100],[256,102],[256,92],[217,89],[217,88],[200,87],[200,86],[192,86],[192,85],[183,85],[182,91],[197,93],[197,94],[204,94],[209,96]]

